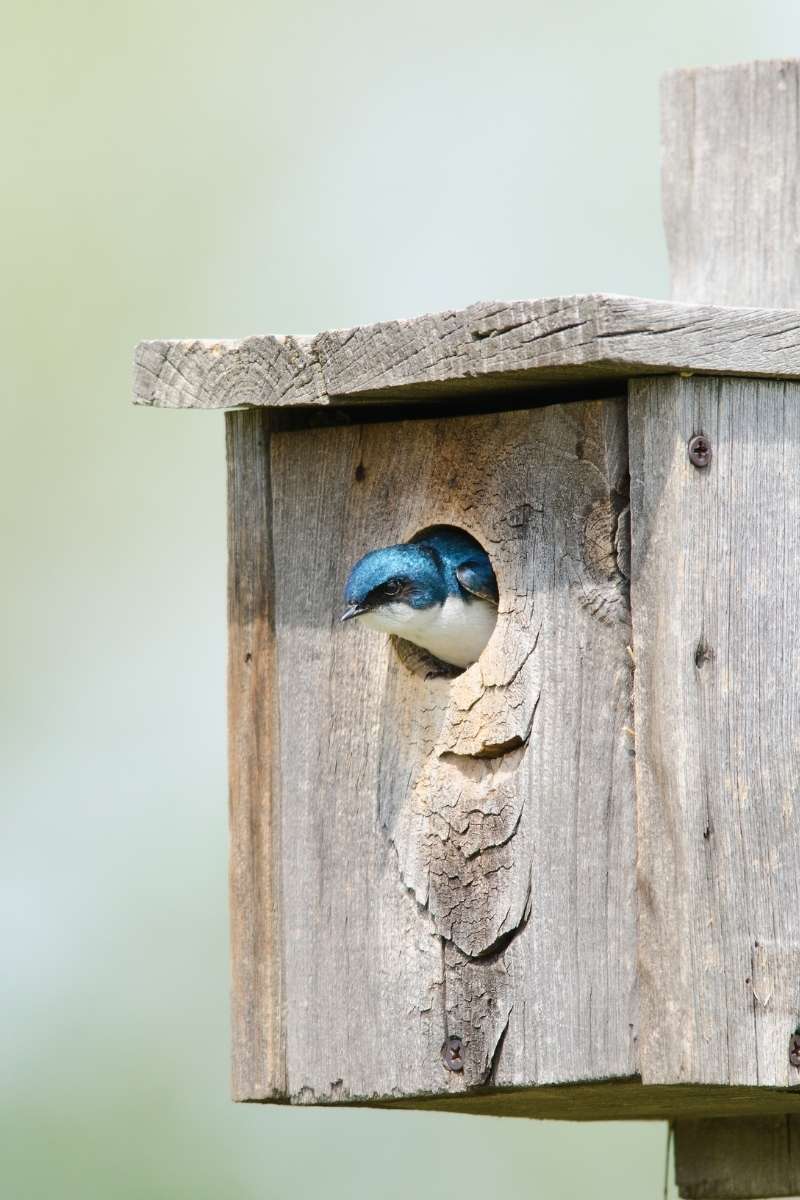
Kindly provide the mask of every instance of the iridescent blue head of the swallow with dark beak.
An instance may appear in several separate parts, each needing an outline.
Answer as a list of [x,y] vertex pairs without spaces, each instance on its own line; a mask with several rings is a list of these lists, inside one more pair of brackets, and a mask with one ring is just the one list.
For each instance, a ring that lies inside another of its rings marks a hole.
[[428,546],[401,545],[372,550],[360,558],[344,586],[342,620],[373,612],[386,604],[431,608],[444,604],[447,586],[441,559]]

